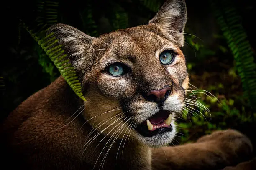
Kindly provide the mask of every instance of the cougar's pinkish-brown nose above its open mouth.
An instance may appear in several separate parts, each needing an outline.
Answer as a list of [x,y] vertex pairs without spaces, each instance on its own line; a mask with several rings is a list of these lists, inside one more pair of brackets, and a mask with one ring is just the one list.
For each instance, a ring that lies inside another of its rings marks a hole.
[[160,90],[150,90],[148,94],[146,94],[146,100],[161,103],[166,100],[170,92],[171,92],[171,87],[169,85],[165,86]]

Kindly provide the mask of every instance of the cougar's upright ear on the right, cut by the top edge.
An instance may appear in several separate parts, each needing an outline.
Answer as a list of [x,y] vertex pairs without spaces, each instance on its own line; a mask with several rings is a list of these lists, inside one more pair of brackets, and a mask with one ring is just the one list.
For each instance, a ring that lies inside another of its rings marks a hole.
[[184,45],[184,28],[187,22],[185,0],[167,0],[148,23],[159,25],[169,36],[174,37],[179,47]]

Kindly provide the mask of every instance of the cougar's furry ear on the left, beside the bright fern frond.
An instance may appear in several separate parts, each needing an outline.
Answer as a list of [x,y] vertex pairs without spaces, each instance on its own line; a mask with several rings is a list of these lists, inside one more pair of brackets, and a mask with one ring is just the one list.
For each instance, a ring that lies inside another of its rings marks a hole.
[[91,58],[90,50],[92,48],[92,40],[95,37],[90,37],[84,34],[77,28],[65,24],[56,24],[51,26],[46,35],[53,35],[58,39],[58,44],[63,45],[62,49],[67,54],[67,58],[72,63],[72,66],[83,71]]

